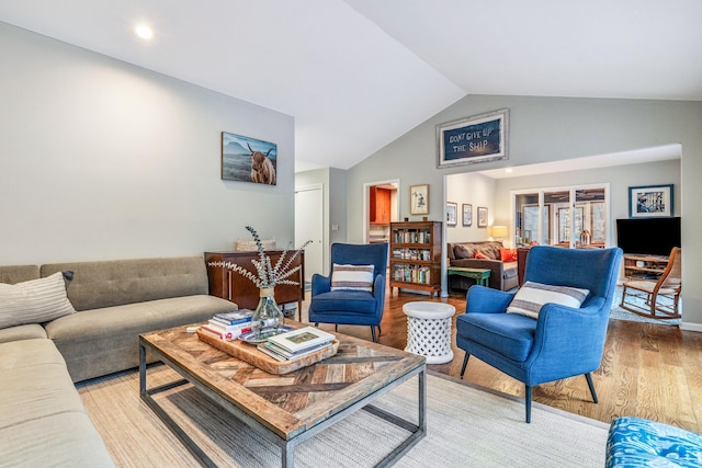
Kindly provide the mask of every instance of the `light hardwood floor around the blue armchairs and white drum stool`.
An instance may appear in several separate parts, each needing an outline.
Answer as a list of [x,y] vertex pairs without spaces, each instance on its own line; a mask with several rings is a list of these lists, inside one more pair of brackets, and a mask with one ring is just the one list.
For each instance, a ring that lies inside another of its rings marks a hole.
[[[403,305],[415,300],[429,298],[405,292],[387,294],[378,339],[382,344],[406,346],[407,318]],[[452,293],[448,299],[433,300],[452,304],[456,316],[465,310],[464,294]],[[308,304],[309,294],[303,304],[304,321]],[[333,326],[320,327],[333,330]],[[340,326],[339,332],[371,339],[369,327]],[[464,352],[455,346],[455,317],[453,341],[454,359],[429,365],[430,369],[460,376]],[[534,388],[533,400],[605,423],[618,416],[635,415],[702,433],[702,333],[680,331],[678,327],[610,320],[602,365],[592,374],[592,379],[599,398],[597,404],[591,400],[584,376],[540,385]],[[523,384],[477,358],[468,362],[464,380],[524,396]]]

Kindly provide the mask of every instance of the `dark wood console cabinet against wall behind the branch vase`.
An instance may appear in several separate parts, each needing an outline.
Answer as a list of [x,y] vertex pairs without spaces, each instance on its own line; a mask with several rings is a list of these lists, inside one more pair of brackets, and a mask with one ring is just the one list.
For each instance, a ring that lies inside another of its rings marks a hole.
[[[293,255],[290,251],[285,256]],[[267,250],[265,254],[271,258],[271,264],[275,263],[283,254],[282,250]],[[211,262],[230,262],[250,271],[258,276],[256,266],[251,260],[258,260],[258,252],[205,252],[205,264],[207,265],[207,277],[210,279],[210,294],[230,300],[239,306],[239,309],[256,309],[259,304],[259,288],[240,273],[222,266],[210,266]],[[296,285],[275,286],[275,301],[279,305],[297,303],[297,319],[302,319],[303,299],[305,298],[305,252],[301,252],[291,264],[291,269],[301,265],[301,269],[287,279],[296,281]]]

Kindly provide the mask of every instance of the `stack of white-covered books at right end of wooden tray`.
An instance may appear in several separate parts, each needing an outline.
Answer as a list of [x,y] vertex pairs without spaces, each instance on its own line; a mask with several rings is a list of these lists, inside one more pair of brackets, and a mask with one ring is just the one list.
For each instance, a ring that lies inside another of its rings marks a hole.
[[332,345],[336,336],[315,327],[305,327],[271,336],[258,349],[278,361],[290,361]]

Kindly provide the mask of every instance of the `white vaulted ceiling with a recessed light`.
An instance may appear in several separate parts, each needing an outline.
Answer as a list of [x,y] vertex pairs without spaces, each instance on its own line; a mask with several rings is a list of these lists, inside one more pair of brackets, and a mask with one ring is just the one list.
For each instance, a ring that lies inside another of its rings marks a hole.
[[294,116],[298,169],[348,169],[467,94],[700,101],[701,18],[699,0],[0,1],[0,21]]

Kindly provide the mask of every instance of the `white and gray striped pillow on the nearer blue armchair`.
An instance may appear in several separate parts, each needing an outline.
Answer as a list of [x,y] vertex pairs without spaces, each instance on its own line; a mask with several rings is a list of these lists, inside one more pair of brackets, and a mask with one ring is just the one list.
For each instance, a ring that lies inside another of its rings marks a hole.
[[579,289],[577,287],[526,282],[507,307],[507,313],[521,313],[536,319],[544,304],[555,303],[578,308],[589,293],[588,289]]

